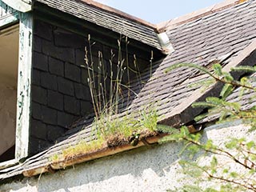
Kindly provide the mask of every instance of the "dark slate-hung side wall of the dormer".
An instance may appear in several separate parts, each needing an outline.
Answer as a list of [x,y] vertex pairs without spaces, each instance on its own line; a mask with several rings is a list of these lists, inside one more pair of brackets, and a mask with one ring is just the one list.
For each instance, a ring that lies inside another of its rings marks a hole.
[[[53,144],[72,123],[94,111],[87,82],[88,71],[82,67],[85,66],[87,37],[35,20],[33,39],[31,154]],[[114,63],[117,63],[118,50],[94,43],[95,71],[98,70],[98,51],[103,54],[106,70],[110,70],[111,50],[115,54]],[[126,53],[123,55],[125,57]],[[129,54],[129,58],[132,57]],[[130,61],[133,63],[132,59]],[[143,67],[148,63],[140,58],[138,62]],[[116,69],[115,65],[113,69]]]

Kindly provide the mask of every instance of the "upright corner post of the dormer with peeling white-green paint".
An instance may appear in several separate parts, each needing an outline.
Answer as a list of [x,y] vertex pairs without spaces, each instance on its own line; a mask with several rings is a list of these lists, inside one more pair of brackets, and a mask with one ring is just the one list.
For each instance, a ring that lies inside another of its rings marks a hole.
[[16,159],[25,158],[29,149],[30,93],[32,66],[32,14],[21,14],[18,56],[18,98],[16,121]]

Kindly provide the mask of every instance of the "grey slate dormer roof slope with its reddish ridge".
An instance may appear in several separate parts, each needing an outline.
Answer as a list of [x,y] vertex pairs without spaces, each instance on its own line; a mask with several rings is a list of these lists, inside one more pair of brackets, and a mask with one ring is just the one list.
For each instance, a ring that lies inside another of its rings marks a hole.
[[90,0],[36,0],[66,14],[74,15],[98,26],[124,34],[146,45],[162,50],[156,26],[129,14]]

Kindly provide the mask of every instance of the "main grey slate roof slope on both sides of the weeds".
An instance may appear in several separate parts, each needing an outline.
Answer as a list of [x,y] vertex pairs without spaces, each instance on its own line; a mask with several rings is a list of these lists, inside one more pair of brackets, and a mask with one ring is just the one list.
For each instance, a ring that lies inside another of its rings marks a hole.
[[[50,1],[45,2],[50,3]],[[225,60],[226,68],[241,63],[248,64],[251,57],[255,56],[255,24],[256,2],[250,0],[180,26],[168,28],[166,33],[175,51],[166,58],[154,62],[151,77],[150,69],[142,73],[142,81],[146,83],[134,82],[134,90],[138,95],[134,95],[128,110],[142,109],[150,100],[157,103],[156,107],[162,123],[181,126],[192,121],[200,111],[191,110],[190,104],[206,97],[206,94],[216,94],[215,91],[219,90],[218,85],[206,93],[201,93],[198,87],[190,87],[190,84],[203,78],[202,75],[185,68],[166,74],[166,68],[179,62],[194,62],[207,66],[210,61],[218,58]],[[81,131],[77,132],[78,130]],[[20,166],[0,170],[0,179],[10,178],[22,174],[24,170],[35,170],[38,167],[49,169],[49,158],[52,155],[61,153],[62,149],[75,145],[81,139],[90,140],[90,131],[90,120],[79,122],[76,128],[62,138],[62,142],[27,159]]]

